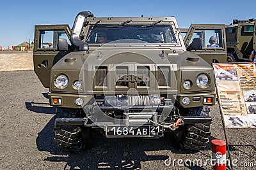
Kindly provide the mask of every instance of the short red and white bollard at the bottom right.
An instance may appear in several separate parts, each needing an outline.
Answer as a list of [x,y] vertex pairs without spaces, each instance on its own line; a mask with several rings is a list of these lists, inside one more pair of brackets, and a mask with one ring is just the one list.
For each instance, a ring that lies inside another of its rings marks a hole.
[[212,143],[212,169],[226,169],[226,143],[219,139],[213,139]]

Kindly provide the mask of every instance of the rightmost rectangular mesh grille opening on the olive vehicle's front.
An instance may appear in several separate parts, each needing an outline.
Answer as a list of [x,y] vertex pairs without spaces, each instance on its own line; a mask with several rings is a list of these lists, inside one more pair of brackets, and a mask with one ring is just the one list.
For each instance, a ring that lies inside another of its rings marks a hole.
[[170,86],[170,67],[157,67],[157,83],[159,86]]

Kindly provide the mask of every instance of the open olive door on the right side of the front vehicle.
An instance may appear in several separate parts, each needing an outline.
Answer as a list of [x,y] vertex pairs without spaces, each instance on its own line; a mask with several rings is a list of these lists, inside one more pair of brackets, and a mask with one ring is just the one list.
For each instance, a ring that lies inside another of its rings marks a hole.
[[[227,62],[224,24],[191,24],[180,29],[186,50],[199,55],[209,64]],[[216,38],[216,47],[210,47],[210,38]]]

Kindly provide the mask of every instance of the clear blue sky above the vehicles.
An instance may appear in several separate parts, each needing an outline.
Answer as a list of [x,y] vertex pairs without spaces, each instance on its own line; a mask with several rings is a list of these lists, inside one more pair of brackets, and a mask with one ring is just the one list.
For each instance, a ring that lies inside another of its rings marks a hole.
[[[12,3],[11,3],[12,2]],[[256,1],[4,1],[0,6],[0,45],[33,41],[35,25],[74,24],[77,13],[91,11],[95,17],[176,17],[179,27],[190,24],[225,24],[233,19],[256,18]],[[244,3],[243,3],[244,2]]]

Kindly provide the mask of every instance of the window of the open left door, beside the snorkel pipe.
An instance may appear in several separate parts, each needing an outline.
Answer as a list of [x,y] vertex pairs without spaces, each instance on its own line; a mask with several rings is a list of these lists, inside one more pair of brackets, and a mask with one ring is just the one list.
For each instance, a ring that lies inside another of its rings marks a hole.
[[40,31],[40,41],[38,48],[58,48],[58,40],[67,39],[68,45],[71,45],[65,31]]

